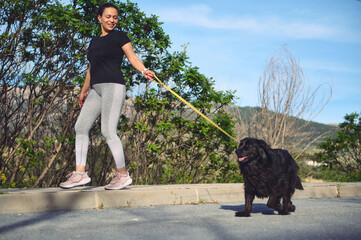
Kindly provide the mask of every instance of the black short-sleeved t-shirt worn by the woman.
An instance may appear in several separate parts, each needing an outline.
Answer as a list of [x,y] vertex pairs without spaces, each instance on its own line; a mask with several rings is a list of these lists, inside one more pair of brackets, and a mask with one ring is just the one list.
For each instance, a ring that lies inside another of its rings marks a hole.
[[125,84],[120,66],[123,62],[122,47],[130,42],[123,31],[111,31],[104,37],[96,36],[88,48],[90,62],[90,85],[96,83]]

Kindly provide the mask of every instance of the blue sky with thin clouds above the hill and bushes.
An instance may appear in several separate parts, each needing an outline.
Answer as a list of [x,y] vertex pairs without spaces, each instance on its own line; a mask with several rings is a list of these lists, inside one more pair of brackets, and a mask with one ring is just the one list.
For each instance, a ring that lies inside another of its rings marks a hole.
[[236,90],[238,106],[257,106],[259,77],[287,45],[311,85],[333,83],[314,119],[340,123],[361,112],[361,2],[358,0],[133,0],[164,22],[172,50],[188,44],[193,66],[218,90]]

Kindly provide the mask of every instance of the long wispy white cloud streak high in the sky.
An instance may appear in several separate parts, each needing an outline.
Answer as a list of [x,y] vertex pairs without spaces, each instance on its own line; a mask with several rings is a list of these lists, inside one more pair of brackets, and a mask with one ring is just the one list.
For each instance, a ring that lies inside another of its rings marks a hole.
[[292,39],[332,39],[344,37],[343,31],[331,24],[323,25],[306,20],[284,20],[279,16],[218,16],[207,5],[163,9],[158,12],[164,22],[176,22],[209,29],[248,31]]

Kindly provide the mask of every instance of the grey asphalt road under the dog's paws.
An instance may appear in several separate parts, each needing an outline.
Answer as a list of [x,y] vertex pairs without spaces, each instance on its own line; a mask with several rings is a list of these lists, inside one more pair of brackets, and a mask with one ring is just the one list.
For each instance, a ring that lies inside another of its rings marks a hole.
[[255,200],[249,218],[240,203],[0,215],[0,239],[361,239],[361,198],[293,202],[280,216]]

